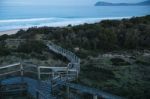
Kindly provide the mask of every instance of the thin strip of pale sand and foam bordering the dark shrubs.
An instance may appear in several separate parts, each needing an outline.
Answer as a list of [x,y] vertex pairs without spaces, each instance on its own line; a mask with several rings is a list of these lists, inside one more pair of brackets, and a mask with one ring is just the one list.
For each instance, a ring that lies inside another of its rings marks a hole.
[[29,26],[29,27],[23,27],[23,28],[18,27],[16,29],[0,31],[0,36],[4,35],[4,34],[7,34],[7,35],[16,34],[20,29],[27,30],[28,28],[31,28],[31,27],[44,27],[44,26],[48,26],[48,27],[66,27],[68,25],[77,26],[77,25],[83,25],[85,23],[94,24],[94,23],[97,23],[97,22],[101,22],[102,20],[121,20],[121,19],[124,19],[124,18],[128,19],[128,18],[131,18],[131,17],[93,18],[94,20],[90,20],[90,19],[87,18],[84,21],[83,20],[75,20],[75,21],[69,20],[69,21],[65,21],[65,22],[54,22],[54,23],[50,23],[50,24],[43,24],[43,25],[39,25],[39,26]]

